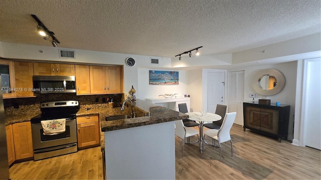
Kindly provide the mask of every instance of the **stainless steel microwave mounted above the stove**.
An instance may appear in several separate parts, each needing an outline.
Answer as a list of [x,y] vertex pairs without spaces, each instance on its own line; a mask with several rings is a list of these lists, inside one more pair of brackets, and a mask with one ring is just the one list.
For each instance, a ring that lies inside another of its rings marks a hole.
[[34,75],[33,82],[36,93],[76,92],[75,76]]

